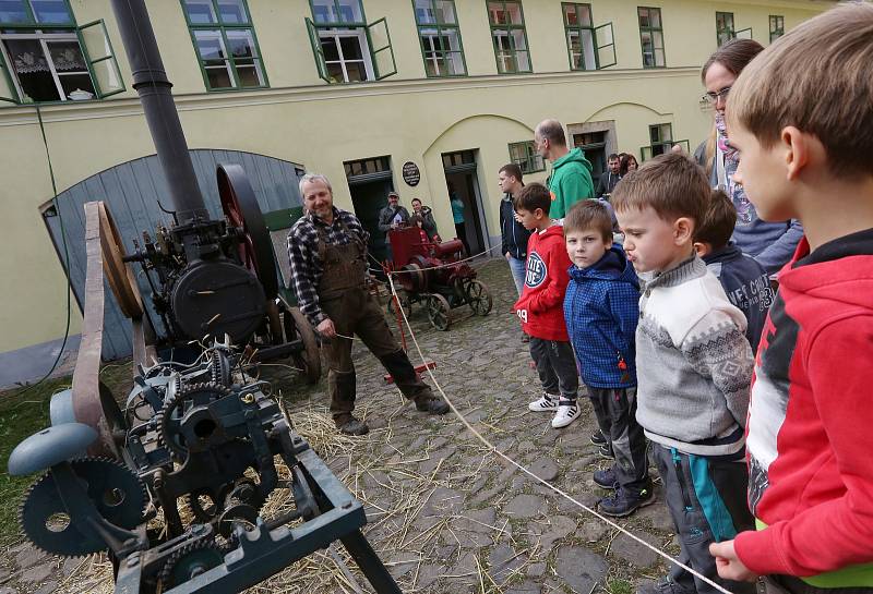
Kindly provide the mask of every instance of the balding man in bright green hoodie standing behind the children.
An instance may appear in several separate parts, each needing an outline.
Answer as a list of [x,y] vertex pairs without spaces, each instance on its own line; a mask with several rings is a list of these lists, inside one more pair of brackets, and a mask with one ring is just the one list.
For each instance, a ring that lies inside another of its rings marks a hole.
[[543,120],[537,125],[534,145],[543,159],[552,161],[552,174],[546,182],[552,195],[549,217],[560,221],[571,206],[595,197],[591,163],[581,148],[566,147],[564,126],[558,120]]

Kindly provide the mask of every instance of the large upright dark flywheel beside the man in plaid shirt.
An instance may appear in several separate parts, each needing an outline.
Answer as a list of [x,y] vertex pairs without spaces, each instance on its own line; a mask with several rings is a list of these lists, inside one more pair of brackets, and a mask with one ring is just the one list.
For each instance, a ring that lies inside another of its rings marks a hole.
[[242,229],[239,257],[261,281],[266,299],[275,299],[279,283],[273,262],[273,242],[249,178],[238,165],[219,165],[217,174],[222,210],[231,227]]

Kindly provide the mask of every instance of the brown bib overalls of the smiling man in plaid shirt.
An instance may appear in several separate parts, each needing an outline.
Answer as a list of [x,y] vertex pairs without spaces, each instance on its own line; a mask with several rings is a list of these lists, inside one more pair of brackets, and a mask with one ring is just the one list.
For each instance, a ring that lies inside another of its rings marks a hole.
[[[357,336],[375,355],[407,398],[432,398],[430,387],[416,374],[409,357],[391,334],[375,298],[367,290],[367,246],[339,222],[351,239],[344,245],[326,242],[326,229],[319,227],[319,257],[322,275],[319,280],[319,305],[334,323],[336,332]],[[327,362],[327,391],[331,413],[337,426],[351,419],[355,410],[356,376],[351,361],[351,340],[334,337],[322,341]]]

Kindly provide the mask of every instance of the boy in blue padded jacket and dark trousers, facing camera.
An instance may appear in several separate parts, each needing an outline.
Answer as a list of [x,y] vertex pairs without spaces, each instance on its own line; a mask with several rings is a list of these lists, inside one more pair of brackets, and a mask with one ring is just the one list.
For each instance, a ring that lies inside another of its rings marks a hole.
[[564,298],[566,329],[597,424],[615,457],[612,468],[594,473],[597,485],[615,489],[598,507],[621,518],[655,500],[646,439],[636,422],[639,283],[622,248],[612,244],[612,220],[598,201],[573,205],[564,219],[564,241],[573,263]]

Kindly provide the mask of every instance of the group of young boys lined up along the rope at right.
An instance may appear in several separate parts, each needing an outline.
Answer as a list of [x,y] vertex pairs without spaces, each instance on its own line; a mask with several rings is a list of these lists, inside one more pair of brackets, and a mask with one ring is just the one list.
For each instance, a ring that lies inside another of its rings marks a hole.
[[[650,448],[679,560],[731,592],[755,580],[772,594],[873,592],[871,64],[873,5],[847,3],[777,40],[732,87],[733,181],[762,219],[805,232],[775,295],[730,243],[731,201],[684,155],[615,185],[623,247],[599,201],[562,227],[543,185],[513,196],[533,233],[515,304],[542,385],[530,410],[570,425],[581,376],[593,441],[614,458],[593,476],[610,490],[600,511],[655,500]],[[673,567],[644,591],[716,589]]]

